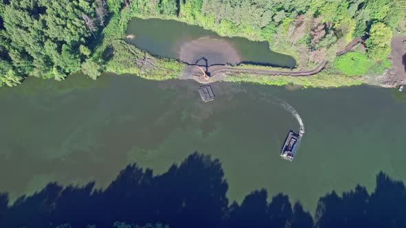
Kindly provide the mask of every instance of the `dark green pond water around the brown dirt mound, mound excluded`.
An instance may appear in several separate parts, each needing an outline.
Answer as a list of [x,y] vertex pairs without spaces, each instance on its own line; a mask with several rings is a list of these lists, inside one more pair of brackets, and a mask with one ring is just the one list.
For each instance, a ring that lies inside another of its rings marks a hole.
[[[147,52],[167,58],[180,59],[180,50],[185,43],[198,38],[209,37],[221,39],[234,47],[242,62],[255,62],[261,65],[278,67],[295,67],[296,61],[291,56],[272,52],[266,42],[249,41],[246,38],[225,38],[215,32],[204,30],[196,25],[188,25],[179,21],[161,19],[131,19],[127,28],[127,41]],[[224,49],[226,51],[227,48]],[[207,50],[201,51],[201,56],[209,58]],[[217,55],[218,56],[218,55]],[[211,59],[209,58],[209,62]],[[194,63],[194,62],[189,62]],[[212,62],[224,63],[224,62]]]

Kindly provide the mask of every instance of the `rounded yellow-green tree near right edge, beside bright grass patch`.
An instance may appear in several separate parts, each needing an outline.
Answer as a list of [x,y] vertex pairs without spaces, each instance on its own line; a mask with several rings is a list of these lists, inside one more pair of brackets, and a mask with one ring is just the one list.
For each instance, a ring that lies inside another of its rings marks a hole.
[[392,36],[392,30],[384,23],[378,22],[372,25],[370,38],[365,41],[368,56],[374,60],[384,60],[389,56]]

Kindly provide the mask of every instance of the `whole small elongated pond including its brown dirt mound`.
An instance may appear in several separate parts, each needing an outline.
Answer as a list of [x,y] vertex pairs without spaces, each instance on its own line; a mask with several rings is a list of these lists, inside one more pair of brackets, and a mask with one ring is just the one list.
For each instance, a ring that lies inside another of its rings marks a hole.
[[197,25],[162,19],[138,19],[129,22],[127,41],[150,54],[195,63],[201,58],[209,65],[250,62],[293,68],[295,58],[269,49],[267,42],[241,37],[222,37]]

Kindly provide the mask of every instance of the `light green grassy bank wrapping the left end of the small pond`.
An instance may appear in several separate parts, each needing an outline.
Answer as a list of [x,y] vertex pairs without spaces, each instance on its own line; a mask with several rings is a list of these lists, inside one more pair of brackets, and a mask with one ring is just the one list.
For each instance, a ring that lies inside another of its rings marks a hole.
[[132,73],[149,80],[178,78],[186,66],[169,58],[152,56],[125,42],[125,31],[129,20],[135,16],[129,8],[119,11],[109,5],[113,14],[103,29],[103,40],[95,48],[94,60],[102,60],[104,71],[112,73]]

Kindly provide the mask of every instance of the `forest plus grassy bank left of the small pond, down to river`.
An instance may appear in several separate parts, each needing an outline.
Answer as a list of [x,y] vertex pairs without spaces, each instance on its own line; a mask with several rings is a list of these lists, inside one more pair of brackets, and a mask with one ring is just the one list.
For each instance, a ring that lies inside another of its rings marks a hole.
[[0,87],[27,76],[63,80],[77,71],[93,79],[102,71],[178,76],[182,63],[125,43],[118,23],[123,7],[106,0],[1,0]]

